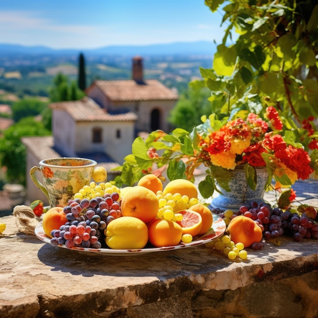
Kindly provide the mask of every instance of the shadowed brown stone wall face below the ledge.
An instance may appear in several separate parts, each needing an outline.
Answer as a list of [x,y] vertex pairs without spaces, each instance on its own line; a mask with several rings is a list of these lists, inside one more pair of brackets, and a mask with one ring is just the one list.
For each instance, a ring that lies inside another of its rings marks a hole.
[[[234,291],[186,292],[179,297],[130,307],[108,318],[316,318],[318,272]],[[180,310],[177,304],[184,305]]]

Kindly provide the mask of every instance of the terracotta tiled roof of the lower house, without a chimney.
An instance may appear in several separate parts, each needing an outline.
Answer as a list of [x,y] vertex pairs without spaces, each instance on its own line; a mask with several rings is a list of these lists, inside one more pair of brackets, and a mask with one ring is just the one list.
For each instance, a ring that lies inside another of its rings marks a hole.
[[110,114],[88,97],[79,101],[52,103],[49,107],[65,110],[75,121],[135,121],[138,118],[133,112]]

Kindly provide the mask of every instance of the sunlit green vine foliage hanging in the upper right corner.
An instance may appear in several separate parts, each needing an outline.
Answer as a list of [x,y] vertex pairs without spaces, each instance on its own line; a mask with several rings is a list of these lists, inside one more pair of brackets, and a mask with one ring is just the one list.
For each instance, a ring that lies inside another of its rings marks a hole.
[[[318,5],[314,0],[205,0],[227,24],[212,69],[194,87],[211,90],[212,111],[260,112],[268,104],[298,121],[318,116]],[[239,37],[228,44],[234,33]]]

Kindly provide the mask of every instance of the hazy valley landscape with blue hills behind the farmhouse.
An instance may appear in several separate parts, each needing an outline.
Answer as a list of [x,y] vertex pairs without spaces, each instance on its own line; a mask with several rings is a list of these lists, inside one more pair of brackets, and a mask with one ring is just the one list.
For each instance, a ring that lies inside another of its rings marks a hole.
[[77,80],[80,53],[85,58],[86,86],[97,79],[131,79],[132,58],[140,55],[145,79],[157,79],[180,93],[188,82],[201,78],[200,67],[212,66],[213,50],[213,43],[204,41],[91,50],[0,44],[0,103],[12,105],[24,97],[48,98],[58,73]]

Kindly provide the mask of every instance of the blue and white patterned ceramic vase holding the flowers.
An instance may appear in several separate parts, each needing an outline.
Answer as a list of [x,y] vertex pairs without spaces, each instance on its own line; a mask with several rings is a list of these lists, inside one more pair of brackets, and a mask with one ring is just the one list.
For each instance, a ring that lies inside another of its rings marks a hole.
[[258,203],[264,202],[265,184],[268,178],[266,168],[258,168],[256,189],[251,189],[246,181],[244,169],[236,168],[233,170],[234,176],[229,182],[230,192],[216,184],[218,190],[216,197],[212,198],[210,206],[221,210],[238,210],[242,205],[249,204],[252,201]]

